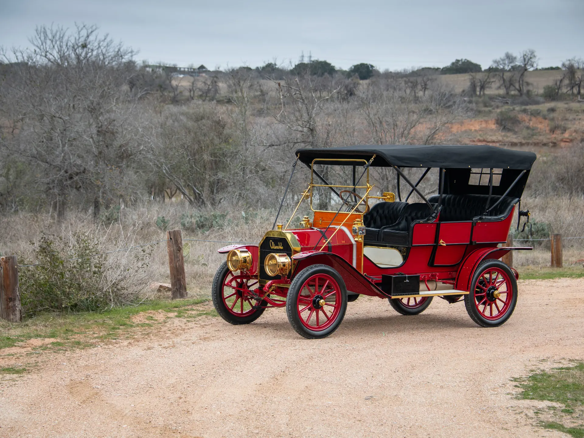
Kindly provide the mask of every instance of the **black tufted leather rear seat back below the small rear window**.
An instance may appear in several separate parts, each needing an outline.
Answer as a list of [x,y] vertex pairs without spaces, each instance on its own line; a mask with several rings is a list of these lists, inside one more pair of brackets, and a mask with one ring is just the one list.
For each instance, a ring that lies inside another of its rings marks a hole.
[[[500,196],[491,196],[490,205],[493,206]],[[437,204],[439,195],[434,194],[428,199],[430,203]],[[442,210],[440,222],[471,221],[473,218],[485,213],[486,194],[445,194],[442,197]],[[501,203],[489,211],[482,220],[502,220],[507,217],[513,206],[519,202],[519,198],[506,196]]]

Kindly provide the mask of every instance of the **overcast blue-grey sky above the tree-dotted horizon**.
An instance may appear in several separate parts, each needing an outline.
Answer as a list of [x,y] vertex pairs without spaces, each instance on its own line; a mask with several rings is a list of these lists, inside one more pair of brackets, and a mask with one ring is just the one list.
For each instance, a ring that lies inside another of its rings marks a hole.
[[540,66],[584,57],[584,0],[182,1],[0,0],[0,45],[27,46],[37,25],[96,24],[138,60],[256,67],[302,51],[348,68],[483,68],[534,48]]

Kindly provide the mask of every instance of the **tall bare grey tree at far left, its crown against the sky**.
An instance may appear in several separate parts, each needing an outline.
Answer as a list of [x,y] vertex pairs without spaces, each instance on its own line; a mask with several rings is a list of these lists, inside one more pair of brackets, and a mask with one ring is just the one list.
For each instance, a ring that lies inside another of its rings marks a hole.
[[30,45],[2,54],[11,71],[0,107],[19,126],[18,135],[0,140],[2,148],[37,170],[37,187],[57,218],[74,197],[91,199],[98,215],[103,203],[131,196],[137,96],[124,85],[137,71],[134,51],[86,25],[37,27]]

